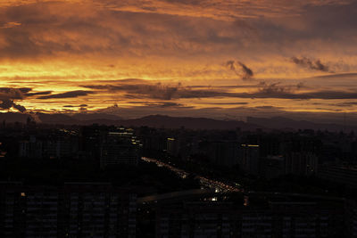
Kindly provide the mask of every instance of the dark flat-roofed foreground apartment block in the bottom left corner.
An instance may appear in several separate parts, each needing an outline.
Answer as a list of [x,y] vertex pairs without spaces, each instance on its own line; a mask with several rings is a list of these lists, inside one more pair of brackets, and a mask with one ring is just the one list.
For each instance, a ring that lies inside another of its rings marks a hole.
[[137,196],[110,184],[0,184],[0,237],[136,237]]

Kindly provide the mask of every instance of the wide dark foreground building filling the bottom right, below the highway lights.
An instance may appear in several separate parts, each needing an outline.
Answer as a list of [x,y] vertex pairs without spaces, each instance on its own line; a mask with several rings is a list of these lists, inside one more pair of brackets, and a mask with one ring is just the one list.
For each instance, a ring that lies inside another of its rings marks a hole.
[[262,193],[157,202],[156,237],[355,237],[355,209],[342,199]]

